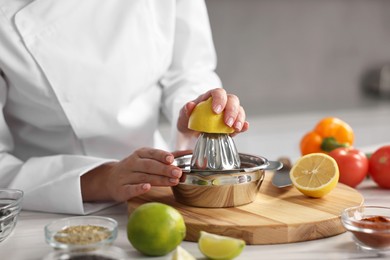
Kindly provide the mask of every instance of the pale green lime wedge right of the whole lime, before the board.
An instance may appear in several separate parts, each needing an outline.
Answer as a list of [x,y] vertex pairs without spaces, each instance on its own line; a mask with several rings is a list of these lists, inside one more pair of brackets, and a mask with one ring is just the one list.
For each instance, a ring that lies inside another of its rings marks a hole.
[[199,250],[210,259],[233,259],[245,247],[245,241],[238,238],[200,232]]

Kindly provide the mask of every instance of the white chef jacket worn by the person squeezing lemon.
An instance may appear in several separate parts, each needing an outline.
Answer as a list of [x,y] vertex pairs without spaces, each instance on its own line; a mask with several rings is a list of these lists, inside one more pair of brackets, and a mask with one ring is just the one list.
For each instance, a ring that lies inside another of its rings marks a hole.
[[105,207],[82,202],[80,176],[163,148],[159,111],[176,126],[221,86],[215,65],[201,0],[0,0],[0,187],[27,210]]

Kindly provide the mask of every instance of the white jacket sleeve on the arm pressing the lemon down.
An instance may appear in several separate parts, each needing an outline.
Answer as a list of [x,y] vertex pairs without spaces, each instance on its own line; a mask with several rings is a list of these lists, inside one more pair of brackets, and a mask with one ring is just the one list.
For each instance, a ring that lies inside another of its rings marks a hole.
[[205,2],[178,0],[174,50],[170,68],[161,80],[163,113],[172,124],[172,149],[189,149],[177,131],[179,111],[204,92],[222,87],[215,73],[216,53]]

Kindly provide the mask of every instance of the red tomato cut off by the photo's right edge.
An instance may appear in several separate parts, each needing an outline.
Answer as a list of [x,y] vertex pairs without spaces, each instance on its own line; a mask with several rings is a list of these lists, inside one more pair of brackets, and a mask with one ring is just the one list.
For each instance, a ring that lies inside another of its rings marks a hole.
[[370,157],[369,172],[379,187],[390,189],[390,145],[382,146]]

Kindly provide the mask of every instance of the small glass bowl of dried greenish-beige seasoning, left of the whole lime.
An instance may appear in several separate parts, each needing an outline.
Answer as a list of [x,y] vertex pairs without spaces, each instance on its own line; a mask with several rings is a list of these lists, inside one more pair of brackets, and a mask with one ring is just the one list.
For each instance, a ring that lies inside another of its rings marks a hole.
[[110,246],[117,235],[118,222],[107,217],[69,217],[45,226],[46,242],[55,249],[69,252],[86,252]]

